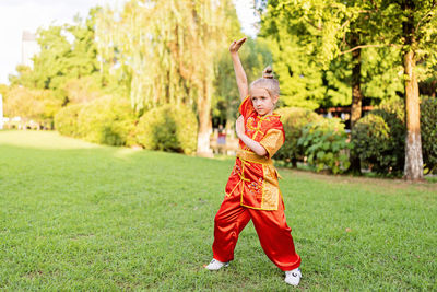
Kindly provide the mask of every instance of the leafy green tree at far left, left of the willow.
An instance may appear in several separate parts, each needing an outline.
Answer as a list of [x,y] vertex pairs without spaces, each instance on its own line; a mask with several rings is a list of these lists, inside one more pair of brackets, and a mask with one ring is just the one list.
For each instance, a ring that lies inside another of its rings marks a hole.
[[[69,102],[66,84],[98,73],[97,50],[94,42],[94,23],[98,8],[91,9],[83,21],[74,24],[39,28],[37,42],[40,52],[34,57],[33,69],[17,66],[17,75],[10,75],[11,85],[27,89],[51,90],[63,104]],[[95,78],[96,85],[102,82]]]

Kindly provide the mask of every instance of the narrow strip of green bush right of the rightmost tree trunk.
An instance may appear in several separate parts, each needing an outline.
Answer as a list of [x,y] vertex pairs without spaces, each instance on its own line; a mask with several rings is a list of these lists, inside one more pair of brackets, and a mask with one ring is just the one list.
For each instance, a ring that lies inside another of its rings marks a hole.
[[437,173],[437,98],[425,97],[421,104],[422,153],[425,173]]

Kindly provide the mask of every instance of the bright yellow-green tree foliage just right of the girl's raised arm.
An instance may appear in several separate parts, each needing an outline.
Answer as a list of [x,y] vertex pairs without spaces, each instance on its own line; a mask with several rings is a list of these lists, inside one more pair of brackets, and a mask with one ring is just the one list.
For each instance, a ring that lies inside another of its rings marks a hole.
[[261,15],[258,37],[269,44],[284,105],[315,109],[326,93],[323,72],[315,61],[315,38],[309,32],[311,27],[294,15],[296,10],[292,10],[293,4],[284,2],[269,1]]

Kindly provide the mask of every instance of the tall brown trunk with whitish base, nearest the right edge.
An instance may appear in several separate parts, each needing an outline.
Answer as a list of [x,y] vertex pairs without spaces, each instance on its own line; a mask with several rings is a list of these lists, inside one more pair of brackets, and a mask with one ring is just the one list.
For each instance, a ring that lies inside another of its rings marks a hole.
[[408,19],[402,23],[405,37],[405,50],[403,54],[403,67],[405,74],[405,167],[404,178],[408,180],[423,179],[423,159],[421,142],[421,109],[418,101],[418,83],[414,72],[415,60],[415,31],[413,1],[406,1],[404,10],[409,11]]

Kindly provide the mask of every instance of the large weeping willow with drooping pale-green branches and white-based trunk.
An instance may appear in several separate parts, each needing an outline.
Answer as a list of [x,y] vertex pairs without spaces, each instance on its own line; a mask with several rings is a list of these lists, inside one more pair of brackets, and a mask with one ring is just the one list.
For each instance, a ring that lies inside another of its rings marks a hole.
[[104,10],[97,22],[102,68],[125,72],[137,112],[167,103],[196,108],[200,154],[210,152],[214,66],[233,14],[231,0],[131,0],[119,14]]

